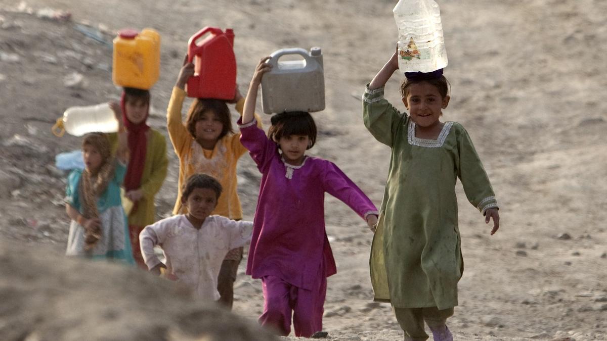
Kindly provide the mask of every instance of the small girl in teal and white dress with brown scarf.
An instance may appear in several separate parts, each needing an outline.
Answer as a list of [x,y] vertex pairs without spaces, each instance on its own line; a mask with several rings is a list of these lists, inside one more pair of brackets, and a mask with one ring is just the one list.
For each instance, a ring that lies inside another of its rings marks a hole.
[[66,212],[72,221],[66,255],[134,263],[120,199],[128,147],[118,122],[116,155],[110,152],[107,135],[88,133],[82,143],[85,168],[72,170],[67,178]]

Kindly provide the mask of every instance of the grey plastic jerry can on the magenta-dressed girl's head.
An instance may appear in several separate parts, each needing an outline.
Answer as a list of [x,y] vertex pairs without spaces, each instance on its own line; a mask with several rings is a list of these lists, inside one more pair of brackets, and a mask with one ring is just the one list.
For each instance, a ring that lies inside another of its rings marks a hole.
[[[299,55],[304,59],[280,61],[282,56]],[[281,49],[270,55],[272,69],[262,78],[264,113],[284,111],[315,112],[325,109],[325,76],[320,47]]]

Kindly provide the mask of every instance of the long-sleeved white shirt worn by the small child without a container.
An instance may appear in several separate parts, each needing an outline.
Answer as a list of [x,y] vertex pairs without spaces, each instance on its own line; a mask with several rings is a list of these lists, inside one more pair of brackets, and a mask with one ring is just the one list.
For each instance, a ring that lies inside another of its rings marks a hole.
[[223,258],[229,250],[251,240],[253,223],[234,221],[220,215],[205,219],[195,229],[183,214],[165,218],[146,226],[139,235],[141,254],[148,269],[160,264],[154,246],[160,245],[166,267],[178,282],[185,283],[205,300],[219,300],[217,277]]

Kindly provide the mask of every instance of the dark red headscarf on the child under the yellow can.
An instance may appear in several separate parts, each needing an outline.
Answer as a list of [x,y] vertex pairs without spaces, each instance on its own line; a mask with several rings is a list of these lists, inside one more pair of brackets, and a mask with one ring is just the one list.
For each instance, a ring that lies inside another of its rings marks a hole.
[[126,175],[124,175],[124,190],[131,191],[138,189],[141,186],[141,176],[143,175],[143,167],[146,163],[146,152],[148,149],[148,138],[146,132],[150,128],[148,126],[149,104],[146,118],[139,124],[134,124],[126,116],[126,103],[124,103],[125,92],[123,91],[120,97],[120,108],[122,109],[122,120],[124,127],[127,130],[127,138],[129,141],[129,164],[126,167]]

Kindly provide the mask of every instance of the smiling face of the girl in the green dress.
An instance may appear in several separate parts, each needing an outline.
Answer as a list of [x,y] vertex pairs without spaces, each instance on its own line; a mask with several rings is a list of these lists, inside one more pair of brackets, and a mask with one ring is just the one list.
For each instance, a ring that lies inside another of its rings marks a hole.
[[440,124],[442,110],[449,104],[449,95],[441,96],[438,88],[427,82],[411,84],[407,97],[402,98],[409,115],[417,126],[430,128]]

